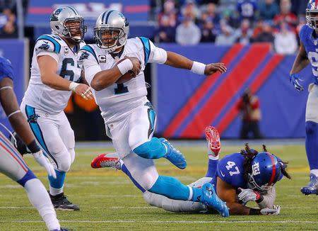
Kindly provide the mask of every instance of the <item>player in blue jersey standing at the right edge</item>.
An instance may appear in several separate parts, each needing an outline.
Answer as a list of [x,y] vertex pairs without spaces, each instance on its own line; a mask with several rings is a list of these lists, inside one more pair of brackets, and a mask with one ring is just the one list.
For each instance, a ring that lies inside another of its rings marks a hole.
[[300,50],[290,71],[290,81],[297,91],[303,91],[298,73],[308,64],[312,65],[314,82],[308,87],[305,117],[305,147],[310,165],[310,182],[300,191],[305,195],[318,195],[318,0],[309,1],[306,19],[307,24],[300,30]]

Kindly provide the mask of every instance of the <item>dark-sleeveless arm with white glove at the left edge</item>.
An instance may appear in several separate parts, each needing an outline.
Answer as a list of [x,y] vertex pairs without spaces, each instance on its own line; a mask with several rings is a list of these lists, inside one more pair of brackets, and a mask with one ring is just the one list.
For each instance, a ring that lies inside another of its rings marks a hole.
[[21,140],[28,146],[29,150],[33,153],[35,160],[47,169],[49,176],[57,177],[54,167],[49,160],[42,154],[40,147],[35,142],[35,137],[28,125],[27,120],[20,112],[16,94],[13,91],[13,81],[8,77],[4,77],[0,81],[0,102],[8,120],[10,121],[13,130],[20,136]]

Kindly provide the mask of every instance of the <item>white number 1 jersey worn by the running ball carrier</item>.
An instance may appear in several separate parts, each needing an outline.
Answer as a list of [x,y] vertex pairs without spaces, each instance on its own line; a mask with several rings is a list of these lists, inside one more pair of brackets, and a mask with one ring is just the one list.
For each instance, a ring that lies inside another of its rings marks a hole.
[[[114,56],[114,55],[113,55]],[[136,57],[141,61],[141,72],[136,78],[124,84],[112,84],[101,91],[94,91],[96,103],[100,106],[105,122],[118,119],[126,111],[140,106],[147,95],[143,70],[148,62],[165,63],[167,52],[155,47],[148,38],[130,38],[124,45],[119,57],[113,57],[106,50],[95,44],[86,45],[78,52],[78,63],[83,64],[88,84],[95,74],[102,70],[112,69],[125,56]]]

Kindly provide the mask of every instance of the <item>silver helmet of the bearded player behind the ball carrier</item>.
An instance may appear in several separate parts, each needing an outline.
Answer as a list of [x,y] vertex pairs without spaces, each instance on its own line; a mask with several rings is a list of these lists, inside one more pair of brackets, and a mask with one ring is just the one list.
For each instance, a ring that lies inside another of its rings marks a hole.
[[[66,26],[68,22],[78,22],[78,26]],[[60,6],[53,11],[49,18],[52,33],[70,38],[75,43],[81,43],[86,33],[84,18],[71,6]]]

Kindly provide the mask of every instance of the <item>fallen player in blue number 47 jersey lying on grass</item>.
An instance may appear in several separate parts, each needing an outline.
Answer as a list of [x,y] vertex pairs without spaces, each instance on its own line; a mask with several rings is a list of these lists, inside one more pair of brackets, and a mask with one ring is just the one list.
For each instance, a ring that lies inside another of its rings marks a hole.
[[[189,186],[199,188],[206,182],[211,182],[218,196],[230,208],[230,215],[278,215],[281,207],[273,205],[276,198],[275,184],[283,176],[290,179],[285,171],[286,163],[267,152],[265,146],[263,152],[257,152],[250,149],[248,145],[245,150],[229,154],[218,161],[220,153],[218,131],[213,127],[207,127],[206,140],[208,142],[208,171],[205,177]],[[146,191],[134,181],[124,161],[119,159],[116,153],[100,154],[93,159],[91,166],[121,169],[141,190],[143,198],[150,205],[171,212],[214,213],[213,209],[199,202],[171,200]],[[245,206],[249,201],[255,201],[259,209]]]

